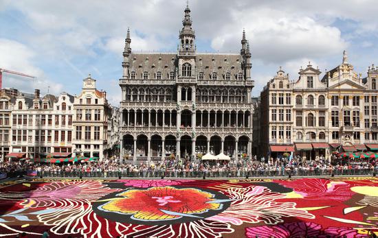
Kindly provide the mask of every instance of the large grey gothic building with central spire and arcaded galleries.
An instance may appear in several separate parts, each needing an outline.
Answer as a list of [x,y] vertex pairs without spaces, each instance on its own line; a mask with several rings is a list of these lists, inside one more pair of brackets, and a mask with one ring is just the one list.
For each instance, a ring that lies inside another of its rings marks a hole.
[[120,79],[121,157],[251,156],[251,53],[199,53],[185,9],[177,53],[135,53],[128,30]]

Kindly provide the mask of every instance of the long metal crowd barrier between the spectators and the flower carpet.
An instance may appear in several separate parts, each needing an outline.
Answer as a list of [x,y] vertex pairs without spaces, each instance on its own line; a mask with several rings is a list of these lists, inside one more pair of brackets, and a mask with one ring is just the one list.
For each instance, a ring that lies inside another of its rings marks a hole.
[[37,176],[55,178],[246,178],[287,176],[372,176],[378,169],[295,169],[236,171],[38,171]]

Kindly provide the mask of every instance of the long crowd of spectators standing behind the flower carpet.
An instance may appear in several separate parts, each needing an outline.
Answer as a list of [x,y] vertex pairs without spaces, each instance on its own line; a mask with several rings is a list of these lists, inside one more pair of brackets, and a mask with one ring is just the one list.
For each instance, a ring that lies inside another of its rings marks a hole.
[[[345,162],[345,161],[344,161]],[[120,163],[118,158],[88,163],[28,163],[27,161],[2,162],[1,173],[36,171],[36,176],[54,177],[239,177],[239,176],[322,176],[322,175],[373,175],[378,171],[375,160],[364,163],[331,164],[322,157],[315,160],[293,158],[260,158],[238,161],[190,161],[186,159]],[[34,173],[35,175],[35,173]]]

